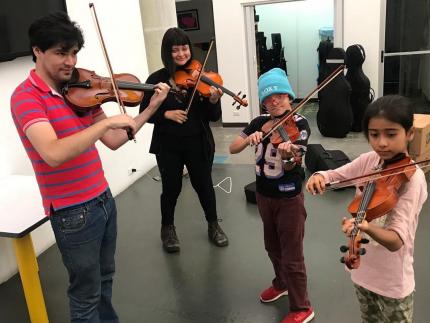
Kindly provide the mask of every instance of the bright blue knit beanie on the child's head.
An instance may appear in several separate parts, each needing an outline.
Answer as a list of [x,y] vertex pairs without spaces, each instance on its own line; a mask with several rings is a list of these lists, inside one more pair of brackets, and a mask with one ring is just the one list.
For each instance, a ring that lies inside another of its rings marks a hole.
[[275,67],[260,75],[258,79],[258,97],[260,98],[260,103],[269,95],[278,93],[287,93],[291,100],[296,98],[285,71]]

